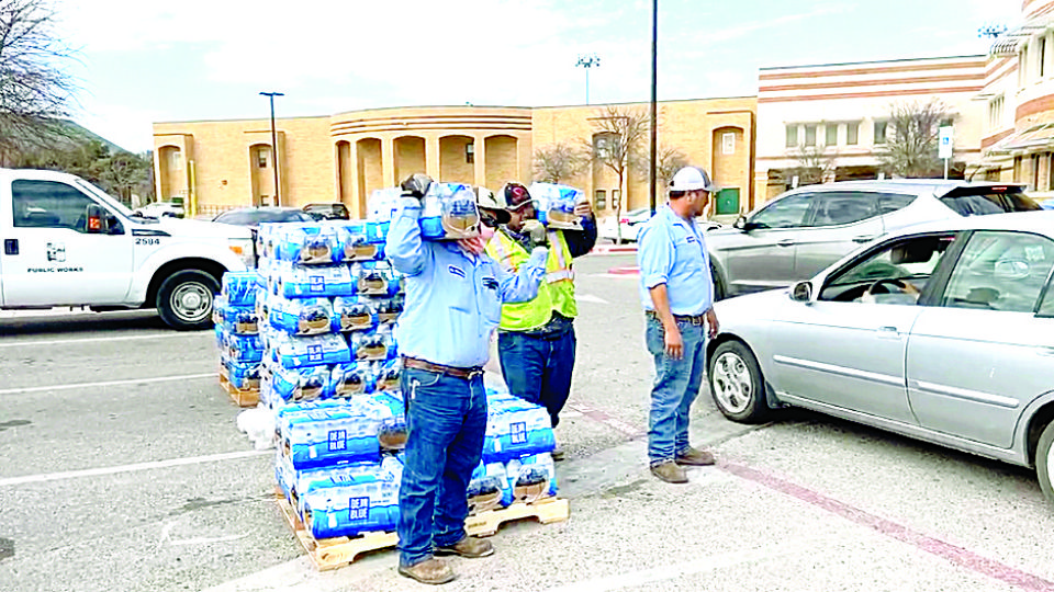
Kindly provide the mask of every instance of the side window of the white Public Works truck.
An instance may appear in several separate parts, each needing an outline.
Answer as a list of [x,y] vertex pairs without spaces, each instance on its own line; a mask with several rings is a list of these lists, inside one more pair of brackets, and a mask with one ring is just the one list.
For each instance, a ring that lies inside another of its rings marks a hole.
[[78,232],[87,232],[88,206],[96,204],[76,187],[56,181],[14,181],[11,201],[14,226],[69,228]]

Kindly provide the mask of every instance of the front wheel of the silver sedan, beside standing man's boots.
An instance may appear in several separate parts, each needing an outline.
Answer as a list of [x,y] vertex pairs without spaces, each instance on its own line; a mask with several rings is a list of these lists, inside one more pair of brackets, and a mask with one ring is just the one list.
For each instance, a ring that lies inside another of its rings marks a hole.
[[759,423],[770,409],[765,400],[765,379],[758,358],[740,341],[726,341],[710,356],[706,373],[710,394],[721,413],[740,423]]

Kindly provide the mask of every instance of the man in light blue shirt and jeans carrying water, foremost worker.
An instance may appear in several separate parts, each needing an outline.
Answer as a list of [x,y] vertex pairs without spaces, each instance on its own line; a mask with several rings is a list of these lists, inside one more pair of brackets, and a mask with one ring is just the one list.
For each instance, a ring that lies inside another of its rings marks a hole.
[[489,540],[464,532],[466,489],[486,431],[482,366],[502,303],[538,294],[548,251],[536,249],[513,275],[483,253],[480,238],[423,241],[419,200],[430,183],[423,174],[403,182],[385,252],[406,275],[406,303],[395,326],[410,430],[399,491],[399,572],[440,584],[455,573],[436,555],[494,553]]

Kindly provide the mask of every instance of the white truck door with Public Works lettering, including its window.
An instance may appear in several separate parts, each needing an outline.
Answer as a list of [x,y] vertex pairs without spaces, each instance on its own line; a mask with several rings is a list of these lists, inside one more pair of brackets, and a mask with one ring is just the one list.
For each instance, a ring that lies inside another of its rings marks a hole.
[[132,284],[132,237],[105,205],[58,181],[11,183],[4,306],[119,305]]

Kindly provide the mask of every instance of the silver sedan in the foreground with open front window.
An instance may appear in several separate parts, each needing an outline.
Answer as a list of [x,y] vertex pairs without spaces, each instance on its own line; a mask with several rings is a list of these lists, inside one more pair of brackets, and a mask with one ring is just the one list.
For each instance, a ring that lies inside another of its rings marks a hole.
[[1034,467],[1054,502],[1054,212],[883,237],[789,289],[716,305],[714,400],[795,406]]

